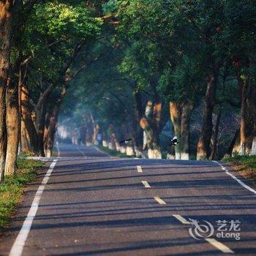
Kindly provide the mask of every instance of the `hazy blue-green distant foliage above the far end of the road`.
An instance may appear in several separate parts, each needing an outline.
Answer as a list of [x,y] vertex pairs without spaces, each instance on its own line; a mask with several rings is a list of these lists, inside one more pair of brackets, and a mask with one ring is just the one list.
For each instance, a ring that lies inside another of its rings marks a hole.
[[134,116],[132,88],[117,67],[122,49],[113,46],[110,40],[104,38],[90,45],[89,53],[81,59],[90,65],[72,82],[60,119],[61,122],[67,119],[69,127],[86,125],[89,113],[105,130],[109,124],[120,127]]

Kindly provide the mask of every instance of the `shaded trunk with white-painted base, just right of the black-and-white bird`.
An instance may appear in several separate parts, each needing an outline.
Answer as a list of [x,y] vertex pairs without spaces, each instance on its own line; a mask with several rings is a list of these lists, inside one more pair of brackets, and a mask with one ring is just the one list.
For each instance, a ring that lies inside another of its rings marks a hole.
[[181,109],[181,159],[189,160],[189,124],[194,106],[185,103]]

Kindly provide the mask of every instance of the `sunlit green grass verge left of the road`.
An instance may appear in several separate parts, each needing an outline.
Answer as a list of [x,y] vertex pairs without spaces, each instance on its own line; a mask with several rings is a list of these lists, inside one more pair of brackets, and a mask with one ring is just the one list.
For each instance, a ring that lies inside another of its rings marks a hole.
[[37,170],[43,165],[41,161],[19,157],[18,173],[7,176],[0,184],[0,231],[15,212],[15,207],[23,194],[24,185],[37,178]]

